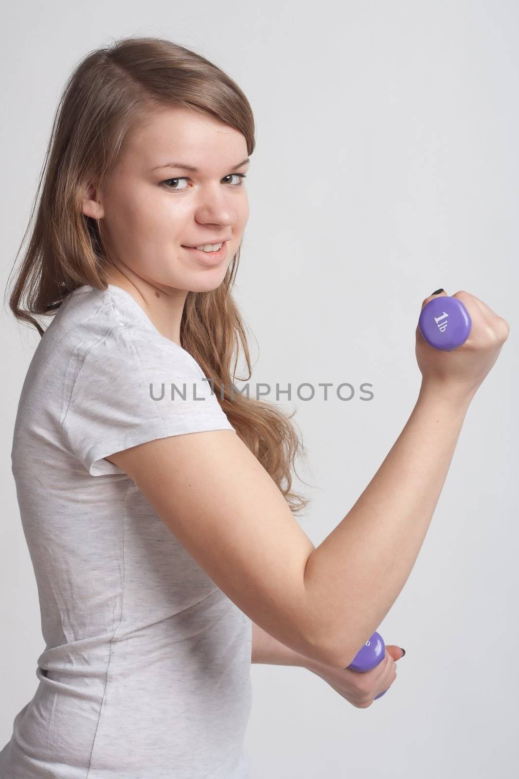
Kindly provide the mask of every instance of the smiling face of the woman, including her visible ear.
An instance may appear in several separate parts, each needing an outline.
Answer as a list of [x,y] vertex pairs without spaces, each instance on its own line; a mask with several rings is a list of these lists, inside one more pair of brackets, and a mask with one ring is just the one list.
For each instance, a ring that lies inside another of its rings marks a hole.
[[[165,291],[210,291],[222,283],[247,224],[240,176],[246,159],[245,137],[233,127],[165,108],[135,130],[83,211],[102,217],[110,256],[123,273]],[[220,241],[221,257],[187,248]]]

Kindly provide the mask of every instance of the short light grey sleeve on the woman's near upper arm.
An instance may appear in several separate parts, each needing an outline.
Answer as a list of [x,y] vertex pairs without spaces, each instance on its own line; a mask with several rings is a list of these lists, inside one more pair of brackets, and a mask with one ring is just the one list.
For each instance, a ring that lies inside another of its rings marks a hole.
[[117,326],[77,360],[61,426],[92,476],[121,474],[103,457],[146,441],[234,430],[202,368],[159,333]]

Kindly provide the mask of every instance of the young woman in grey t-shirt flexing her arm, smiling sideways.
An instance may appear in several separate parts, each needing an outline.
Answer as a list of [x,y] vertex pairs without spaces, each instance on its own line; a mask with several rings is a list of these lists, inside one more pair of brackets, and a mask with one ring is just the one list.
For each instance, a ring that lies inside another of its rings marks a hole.
[[244,93],[170,41],[94,51],[66,86],[10,298],[42,336],[12,471],[46,648],[2,779],[241,779],[251,659],[311,668],[357,707],[395,680],[398,647],[346,666],[412,570],[508,326],[461,291],[462,347],[417,328],[409,421],[314,548],[296,428],[233,386],[240,344],[251,374],[231,287],[253,151]]

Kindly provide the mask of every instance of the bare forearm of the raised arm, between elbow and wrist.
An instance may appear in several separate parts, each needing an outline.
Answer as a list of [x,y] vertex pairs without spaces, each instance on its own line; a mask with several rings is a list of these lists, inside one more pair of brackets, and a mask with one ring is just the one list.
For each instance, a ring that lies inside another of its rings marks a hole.
[[380,625],[409,577],[469,403],[422,387],[370,484],[310,555],[309,602],[323,645],[343,666]]

